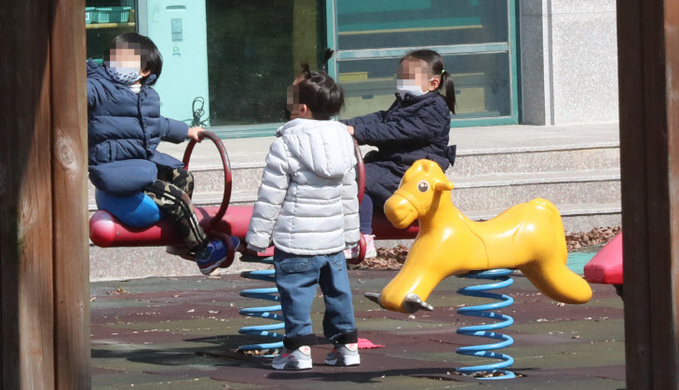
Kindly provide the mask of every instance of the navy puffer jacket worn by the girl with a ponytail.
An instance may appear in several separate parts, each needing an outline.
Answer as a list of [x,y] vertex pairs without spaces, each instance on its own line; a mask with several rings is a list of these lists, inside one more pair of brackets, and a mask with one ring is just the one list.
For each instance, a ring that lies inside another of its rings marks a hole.
[[397,94],[389,110],[342,122],[354,127],[359,144],[378,148],[364,157],[365,192],[377,207],[398,189],[415,161],[435,161],[444,172],[455,161],[455,145],[448,145],[450,109],[438,92],[403,100]]

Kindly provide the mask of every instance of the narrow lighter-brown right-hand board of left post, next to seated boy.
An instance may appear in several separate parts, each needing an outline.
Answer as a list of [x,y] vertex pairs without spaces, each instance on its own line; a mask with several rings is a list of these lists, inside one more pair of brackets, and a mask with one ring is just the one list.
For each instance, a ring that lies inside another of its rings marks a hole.
[[91,378],[85,1],[52,3],[56,388],[87,389]]

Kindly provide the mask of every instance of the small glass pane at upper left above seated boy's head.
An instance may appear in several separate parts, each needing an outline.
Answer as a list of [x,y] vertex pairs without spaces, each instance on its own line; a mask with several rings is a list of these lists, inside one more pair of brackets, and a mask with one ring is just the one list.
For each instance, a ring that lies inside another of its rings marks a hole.
[[104,61],[113,38],[137,31],[136,0],[86,0],[87,58]]

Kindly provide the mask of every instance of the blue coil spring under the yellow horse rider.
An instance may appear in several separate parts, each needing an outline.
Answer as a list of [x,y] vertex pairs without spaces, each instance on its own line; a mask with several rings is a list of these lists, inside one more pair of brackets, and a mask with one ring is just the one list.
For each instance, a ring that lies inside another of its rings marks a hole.
[[505,348],[514,343],[514,339],[502,333],[496,333],[495,330],[504,329],[514,323],[514,319],[505,314],[490,312],[489,310],[501,309],[510,306],[514,303],[512,297],[505,294],[490,293],[488,290],[496,290],[511,286],[514,280],[509,276],[513,271],[509,269],[495,269],[484,272],[471,272],[465,275],[460,275],[462,278],[497,280],[497,283],[482,284],[476,286],[469,286],[459,289],[457,292],[472,297],[497,299],[500,302],[489,303],[485,305],[461,307],[457,310],[458,314],[466,316],[474,316],[481,318],[489,318],[501,322],[492,324],[484,324],[477,326],[466,326],[457,330],[458,334],[466,336],[486,337],[500,342],[494,344],[472,345],[468,347],[460,347],[457,353],[466,356],[482,356],[493,359],[500,359],[501,362],[494,364],[485,364],[472,367],[458,367],[456,370],[464,374],[474,374],[481,372],[492,372],[501,374],[498,376],[479,377],[479,379],[511,379],[515,375],[511,371],[504,370],[514,364],[514,359],[503,353],[492,352],[493,350]]

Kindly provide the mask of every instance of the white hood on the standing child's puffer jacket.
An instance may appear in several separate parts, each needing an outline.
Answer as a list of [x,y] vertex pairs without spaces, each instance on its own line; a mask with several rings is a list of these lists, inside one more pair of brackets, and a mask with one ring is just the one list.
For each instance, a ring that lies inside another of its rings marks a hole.
[[290,152],[321,177],[342,177],[356,165],[347,126],[335,121],[294,119],[276,131]]

